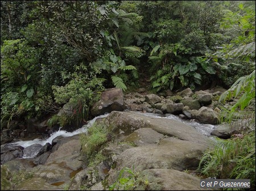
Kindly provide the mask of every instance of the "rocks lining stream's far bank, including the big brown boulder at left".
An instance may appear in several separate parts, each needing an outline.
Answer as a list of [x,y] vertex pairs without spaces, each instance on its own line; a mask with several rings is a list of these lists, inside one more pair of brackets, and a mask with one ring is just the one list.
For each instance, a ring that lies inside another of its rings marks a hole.
[[[148,113],[171,113],[189,120],[195,119],[204,124],[218,124],[220,112],[218,98],[224,88],[192,92],[190,88],[176,95],[158,96],[156,94],[127,94],[123,98],[118,88],[104,92],[102,99],[94,104],[92,114],[98,116],[109,111],[141,111]],[[142,92],[142,90],[140,90]],[[135,105],[135,106],[134,106]]]

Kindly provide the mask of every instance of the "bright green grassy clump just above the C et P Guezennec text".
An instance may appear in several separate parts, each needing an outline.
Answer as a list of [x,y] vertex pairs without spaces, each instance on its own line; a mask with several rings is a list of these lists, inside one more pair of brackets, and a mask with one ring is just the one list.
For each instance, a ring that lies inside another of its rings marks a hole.
[[207,177],[250,179],[255,188],[255,131],[232,140],[217,139],[215,149],[204,153],[199,168]]

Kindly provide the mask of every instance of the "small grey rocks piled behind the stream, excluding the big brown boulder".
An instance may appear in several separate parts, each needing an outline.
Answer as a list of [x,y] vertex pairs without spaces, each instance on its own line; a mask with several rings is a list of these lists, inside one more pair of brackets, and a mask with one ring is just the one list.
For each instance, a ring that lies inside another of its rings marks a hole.
[[[221,91],[225,90],[221,89]],[[193,93],[190,88],[187,88],[176,95],[166,97],[155,94],[136,94],[135,98],[127,97],[125,103],[141,105],[137,110],[142,112],[171,113],[179,115],[180,118],[195,119],[204,124],[218,124],[218,112],[220,112],[218,97],[221,94],[220,91],[215,90]]]

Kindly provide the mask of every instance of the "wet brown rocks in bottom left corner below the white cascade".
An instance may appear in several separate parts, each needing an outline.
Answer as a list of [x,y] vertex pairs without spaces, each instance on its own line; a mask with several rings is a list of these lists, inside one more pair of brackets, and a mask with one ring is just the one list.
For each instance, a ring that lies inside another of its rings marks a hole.
[[[80,151],[79,135],[59,136],[53,139],[52,144],[46,143],[44,146],[34,144],[23,148],[1,145],[1,190],[63,190],[64,183],[70,182],[76,173],[86,167]],[[36,155],[22,158],[31,155],[31,152]],[[6,171],[12,175],[7,176],[6,173],[2,177],[2,172]],[[33,177],[12,185],[10,177],[20,172],[31,173]]]

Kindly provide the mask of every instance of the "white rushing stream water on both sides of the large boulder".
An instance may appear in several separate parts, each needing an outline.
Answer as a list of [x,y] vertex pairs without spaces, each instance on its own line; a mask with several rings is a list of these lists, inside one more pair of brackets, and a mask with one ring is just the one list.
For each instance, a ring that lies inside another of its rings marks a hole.
[[[138,112],[140,113],[140,112]],[[207,137],[210,136],[210,132],[212,132],[215,129],[214,125],[210,124],[200,124],[199,122],[193,121],[193,120],[181,120],[179,117],[175,116],[174,114],[156,114],[156,113],[141,113],[144,114],[145,116],[148,117],[154,117],[154,118],[171,118],[172,120],[180,121],[183,122],[187,125],[193,126],[196,130],[200,131],[202,134],[206,135]],[[58,136],[63,136],[63,137],[71,137],[76,134],[80,133],[86,133],[88,128],[92,126],[94,121],[96,121],[97,118],[102,118],[102,117],[107,117],[109,113],[106,113],[104,115],[98,116],[93,118],[93,120],[90,120],[88,124],[82,126],[80,129],[77,129],[73,132],[67,132],[64,130],[59,129],[59,131],[56,131],[51,134],[51,136],[47,139],[39,139],[36,138],[31,141],[18,141],[15,143],[9,143],[8,145],[11,146],[22,146],[24,147],[23,150],[23,158],[33,158],[38,154],[40,148],[42,148],[46,143],[52,143],[52,140]]]

